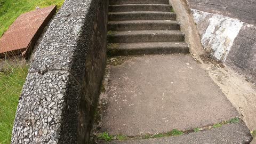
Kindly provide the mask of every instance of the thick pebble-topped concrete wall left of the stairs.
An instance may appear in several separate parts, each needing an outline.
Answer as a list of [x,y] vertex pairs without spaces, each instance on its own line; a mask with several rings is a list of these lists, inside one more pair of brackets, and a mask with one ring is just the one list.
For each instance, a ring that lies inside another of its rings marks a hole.
[[106,65],[103,0],[66,0],[39,43],[12,143],[87,143]]

